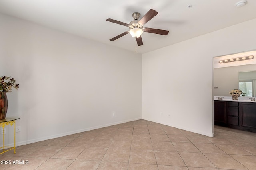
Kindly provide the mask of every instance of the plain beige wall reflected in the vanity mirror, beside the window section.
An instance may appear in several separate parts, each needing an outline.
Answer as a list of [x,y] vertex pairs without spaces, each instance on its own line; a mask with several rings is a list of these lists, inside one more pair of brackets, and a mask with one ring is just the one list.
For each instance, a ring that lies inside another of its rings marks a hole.
[[232,89],[238,89],[238,72],[256,70],[256,64],[214,68],[213,96],[231,96]]

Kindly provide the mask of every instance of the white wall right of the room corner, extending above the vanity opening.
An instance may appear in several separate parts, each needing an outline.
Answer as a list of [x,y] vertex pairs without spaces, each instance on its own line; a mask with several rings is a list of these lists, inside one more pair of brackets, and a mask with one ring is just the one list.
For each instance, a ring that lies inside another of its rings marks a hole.
[[213,136],[213,57],[255,49],[255,27],[256,19],[143,54],[142,119]]

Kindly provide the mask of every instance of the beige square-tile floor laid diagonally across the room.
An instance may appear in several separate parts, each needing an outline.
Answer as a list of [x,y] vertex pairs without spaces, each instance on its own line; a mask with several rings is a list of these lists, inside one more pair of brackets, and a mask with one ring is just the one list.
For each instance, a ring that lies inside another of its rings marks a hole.
[[[206,137],[145,120],[16,147],[0,170],[256,170],[256,133],[214,127]],[[28,164],[26,164],[26,161]]]

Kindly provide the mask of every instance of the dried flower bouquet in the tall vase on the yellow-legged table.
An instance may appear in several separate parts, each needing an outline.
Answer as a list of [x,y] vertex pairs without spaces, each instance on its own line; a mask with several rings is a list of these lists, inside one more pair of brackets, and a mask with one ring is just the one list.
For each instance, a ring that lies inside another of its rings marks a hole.
[[19,84],[16,84],[14,78],[2,76],[0,77],[0,91],[2,92],[11,92],[12,87],[18,89]]

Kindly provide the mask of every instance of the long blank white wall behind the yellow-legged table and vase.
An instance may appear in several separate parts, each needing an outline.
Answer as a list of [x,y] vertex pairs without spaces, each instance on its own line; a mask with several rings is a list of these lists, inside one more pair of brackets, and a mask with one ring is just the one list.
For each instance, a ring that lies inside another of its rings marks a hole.
[[140,54],[2,14],[0,37],[0,75],[20,84],[7,94],[17,145],[141,119]]

